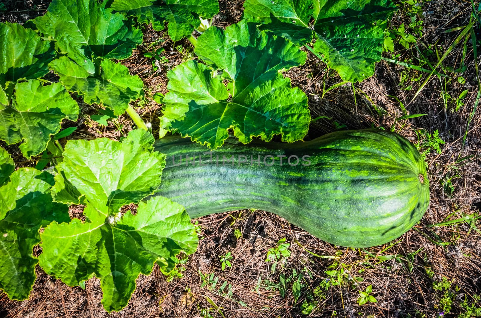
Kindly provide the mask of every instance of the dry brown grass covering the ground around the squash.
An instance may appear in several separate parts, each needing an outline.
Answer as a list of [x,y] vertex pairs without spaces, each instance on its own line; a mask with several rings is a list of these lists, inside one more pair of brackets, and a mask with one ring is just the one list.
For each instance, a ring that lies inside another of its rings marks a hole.
[[[43,2],[41,8],[44,9]],[[427,2],[423,10],[430,13],[424,19],[424,34],[419,43],[435,44],[443,52],[456,37],[456,32],[443,31],[466,25],[469,5],[467,1]],[[241,1],[222,0],[220,7],[221,12],[214,18],[216,25],[225,27],[241,18]],[[18,19],[18,14],[8,13],[3,14],[0,19],[10,21],[15,20],[15,17]],[[403,22],[406,22],[406,17],[402,12],[393,17],[394,27]],[[137,105],[137,109],[144,120],[153,123],[155,134],[155,130],[158,129],[158,126],[155,126],[156,118],[161,108],[150,96],[156,92],[166,92],[165,73],[188,58],[186,49],[190,44],[181,41],[174,45],[164,32],[154,32],[149,26],[144,28],[144,33],[144,44],[134,50],[133,56],[123,63],[129,67],[131,73],[138,74],[149,87],[145,100]],[[179,44],[184,48],[183,52],[176,49]],[[152,59],[146,58],[143,53],[157,48],[165,49],[168,62],[161,65],[159,71],[154,72]],[[412,50],[400,52],[401,56],[398,58],[400,60],[414,54]],[[462,54],[462,46],[456,47],[443,66],[458,67]],[[419,73],[385,61],[378,63],[373,77],[356,84],[354,91],[351,85],[345,85],[329,91],[323,98],[324,87],[328,88],[339,83],[341,79],[326,69],[326,65],[315,56],[309,53],[304,66],[286,73],[291,77],[292,85],[300,87],[307,94],[312,117],[327,117],[311,125],[307,138],[331,132],[337,125],[344,124],[349,129],[371,126],[382,126],[387,130],[393,128],[415,143],[419,142],[416,133],[419,129],[426,129],[430,133],[438,130],[446,142],[441,145],[440,154],[426,155],[431,187],[430,207],[420,223],[392,246],[384,245],[366,250],[337,247],[316,239],[280,217],[258,210],[241,211],[241,214],[240,212],[216,214],[198,220],[203,239],[199,242],[198,251],[190,256],[184,265],[184,277],[167,283],[165,276],[154,267],[150,276],[139,277],[136,292],[129,305],[121,312],[108,315],[103,310],[101,289],[97,279],[89,280],[86,289],[83,290],[80,287],[68,287],[61,281],[55,281],[41,269],[37,269],[38,281],[30,299],[24,302],[11,301],[2,294],[0,315],[12,318],[107,316],[191,318],[202,317],[202,308],[216,307],[218,310],[214,308],[210,311],[213,317],[222,315],[226,318],[300,317],[302,316],[300,304],[317,286],[326,283],[329,276],[325,271],[333,264],[333,257],[337,257],[337,262],[344,264],[342,267],[348,270],[346,282],[340,286],[330,287],[324,293],[324,297],[318,299],[317,309],[310,317],[333,317],[334,312],[337,314],[336,317],[369,315],[437,317],[441,311],[439,308],[441,294],[436,293],[432,286],[433,281],[440,281],[443,277],[453,281],[453,291],[454,285],[459,287],[453,296],[451,317],[456,317],[462,312],[459,303],[465,297],[471,299],[474,294],[481,294],[481,233],[470,228],[467,223],[437,228],[428,225],[442,222],[448,217],[453,220],[471,213],[479,213],[481,206],[479,110],[475,113],[469,128],[467,127],[478,91],[472,48],[467,50],[465,61],[467,71],[463,76],[468,84],[461,85],[453,80],[446,86],[447,92],[454,98],[459,96],[462,90],[469,90],[465,106],[457,112],[451,110],[453,101],[448,108],[445,107],[441,94],[445,83],[437,77],[432,77],[421,94],[409,103],[419,87],[419,82],[413,83],[411,90],[402,90],[401,76],[403,72],[412,77],[418,76]],[[431,62],[435,63],[436,59],[433,58]],[[405,114],[398,100],[404,103],[409,113],[427,115],[396,121]],[[89,115],[93,114],[95,109],[89,105],[82,107],[85,115],[76,123],[79,128],[73,135],[74,138],[99,136],[118,138],[132,128],[126,116],[119,118],[120,126],[100,126],[89,119]],[[468,138],[463,145],[462,139],[467,130]],[[457,162],[458,159],[465,157],[471,158]],[[446,180],[451,177],[454,187],[452,194],[444,186]],[[77,215],[78,209],[81,211],[81,207],[76,207],[71,212]],[[481,226],[480,220],[473,224],[478,228]],[[242,232],[241,238],[235,238],[235,229]],[[283,265],[278,265],[277,271],[271,272],[270,263],[265,262],[267,250],[284,237],[291,244],[291,257],[287,258]],[[231,261],[232,267],[222,271],[218,260],[227,251],[234,257]],[[323,257],[313,256],[308,251]],[[396,255],[402,257],[395,258]],[[387,256],[392,256],[392,259],[380,261],[379,257]],[[290,290],[282,298],[277,291],[257,287],[259,279],[278,282],[280,273],[289,276],[293,269],[304,273],[309,271],[312,275],[305,276],[305,286],[297,303],[294,303],[294,296]],[[219,277],[217,288],[209,288],[211,284],[201,288],[203,280],[200,273],[203,275],[214,273]],[[362,277],[364,281],[356,285],[350,280],[354,277]],[[224,281],[232,285],[230,297],[218,291],[218,286]],[[367,285],[373,286],[373,295],[378,302],[358,306],[359,288],[365,290]]]

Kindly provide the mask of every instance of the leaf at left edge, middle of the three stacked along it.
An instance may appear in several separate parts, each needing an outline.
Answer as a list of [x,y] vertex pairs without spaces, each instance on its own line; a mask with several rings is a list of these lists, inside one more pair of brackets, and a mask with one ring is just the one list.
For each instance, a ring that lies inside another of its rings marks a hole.
[[60,83],[43,86],[38,80],[17,83],[10,105],[0,104],[0,139],[20,145],[26,158],[47,148],[63,119],[76,121],[78,105]]

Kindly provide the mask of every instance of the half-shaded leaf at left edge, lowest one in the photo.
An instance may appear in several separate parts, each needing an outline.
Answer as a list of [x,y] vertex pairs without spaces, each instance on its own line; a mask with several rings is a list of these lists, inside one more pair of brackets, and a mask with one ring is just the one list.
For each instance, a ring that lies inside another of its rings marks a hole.
[[10,178],[0,187],[0,289],[10,299],[24,300],[37,277],[32,248],[40,243],[38,230],[70,217],[66,205],[52,201],[48,172],[20,168]]

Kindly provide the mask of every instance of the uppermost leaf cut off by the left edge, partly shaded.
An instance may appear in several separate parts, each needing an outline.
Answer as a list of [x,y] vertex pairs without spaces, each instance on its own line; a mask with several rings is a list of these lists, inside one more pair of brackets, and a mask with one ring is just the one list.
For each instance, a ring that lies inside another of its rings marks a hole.
[[[7,81],[45,75],[53,54],[53,45],[43,41],[34,30],[16,23],[0,23],[0,86]],[[5,104],[2,100],[0,96],[0,104]]]

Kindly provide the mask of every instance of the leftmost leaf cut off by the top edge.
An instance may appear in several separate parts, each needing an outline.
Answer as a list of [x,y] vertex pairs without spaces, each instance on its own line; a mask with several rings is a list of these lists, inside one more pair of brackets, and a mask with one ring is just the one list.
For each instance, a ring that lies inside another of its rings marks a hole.
[[105,9],[106,1],[53,0],[48,12],[34,20],[57,48],[93,73],[92,59],[126,59],[142,43],[142,31],[120,13]]

